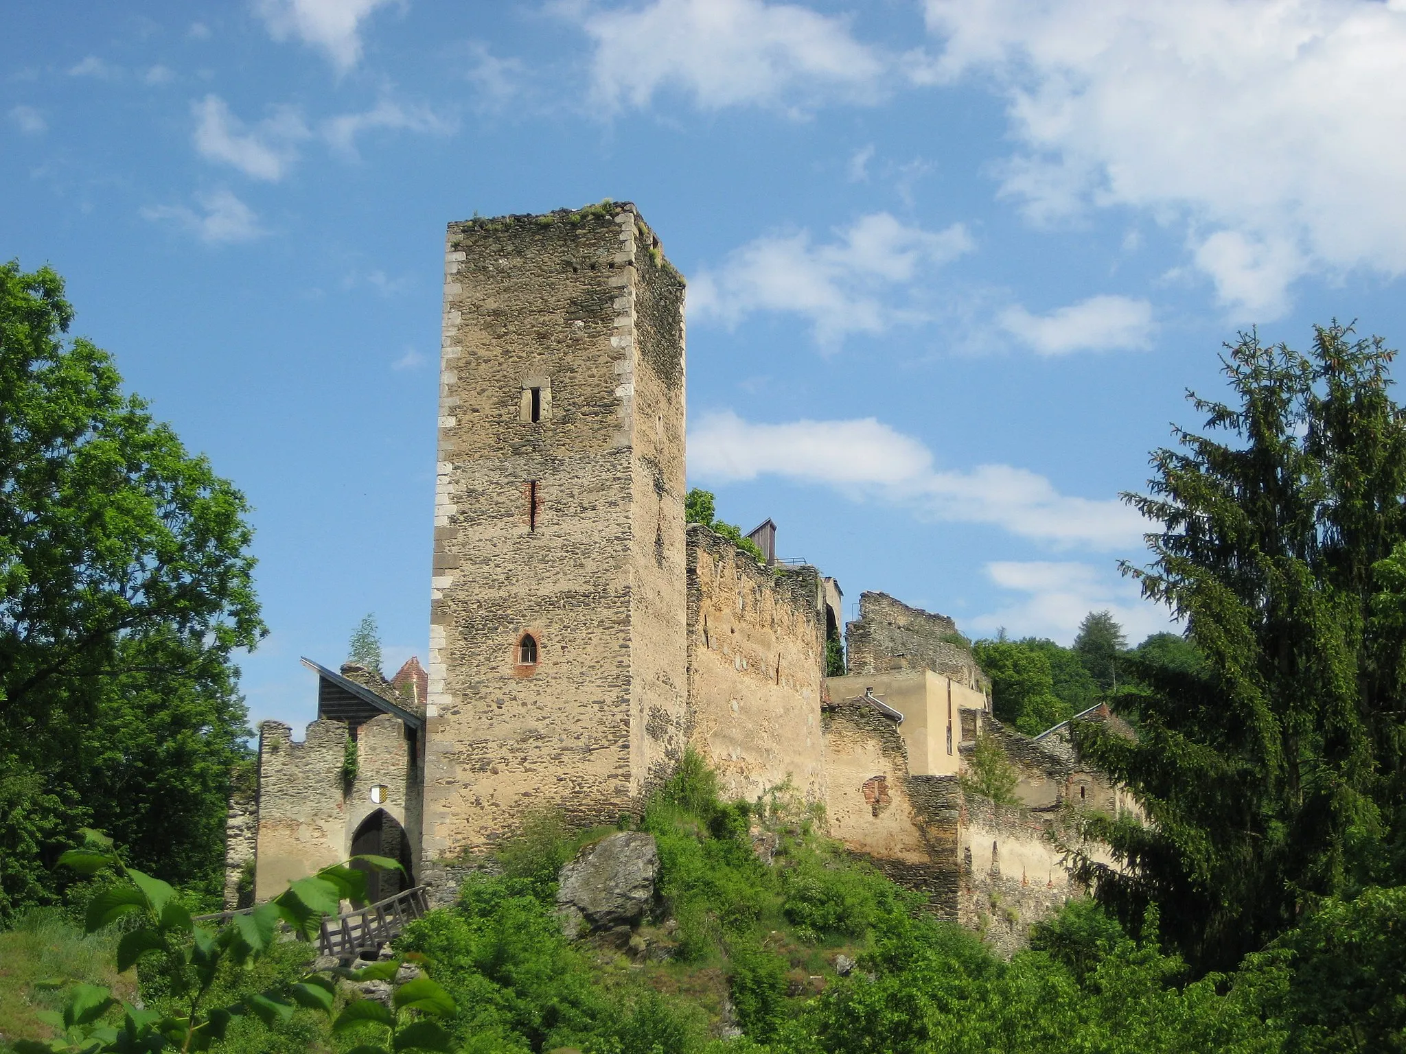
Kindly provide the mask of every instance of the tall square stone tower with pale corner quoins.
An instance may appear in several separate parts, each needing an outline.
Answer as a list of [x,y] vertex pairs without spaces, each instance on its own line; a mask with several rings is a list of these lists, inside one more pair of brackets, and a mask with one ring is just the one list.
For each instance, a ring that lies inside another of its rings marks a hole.
[[683,280],[634,205],[450,223],[425,857],[685,742]]

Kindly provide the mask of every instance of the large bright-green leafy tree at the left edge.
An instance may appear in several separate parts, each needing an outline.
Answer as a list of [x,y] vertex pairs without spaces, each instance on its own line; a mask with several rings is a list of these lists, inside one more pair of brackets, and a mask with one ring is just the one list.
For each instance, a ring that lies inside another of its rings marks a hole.
[[243,496],[72,318],[52,270],[0,266],[0,916],[56,895],[45,863],[91,822],[215,883],[246,734],[231,653],[264,632]]

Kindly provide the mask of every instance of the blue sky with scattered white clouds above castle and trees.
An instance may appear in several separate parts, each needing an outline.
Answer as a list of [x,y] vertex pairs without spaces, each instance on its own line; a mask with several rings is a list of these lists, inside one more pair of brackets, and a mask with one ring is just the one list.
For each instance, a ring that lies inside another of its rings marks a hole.
[[444,225],[605,197],[690,280],[724,519],[1136,641],[1116,495],[1220,343],[1406,333],[1403,56],[1402,0],[10,4],[0,256],[249,496],[254,720],[367,611],[425,658]]

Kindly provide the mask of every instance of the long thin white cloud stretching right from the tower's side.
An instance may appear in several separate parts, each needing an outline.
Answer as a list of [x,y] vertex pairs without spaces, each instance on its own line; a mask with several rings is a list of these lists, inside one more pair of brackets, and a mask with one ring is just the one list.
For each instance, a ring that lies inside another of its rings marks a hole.
[[821,483],[855,500],[876,497],[934,520],[993,524],[1054,547],[1129,548],[1144,530],[1122,502],[1062,495],[1022,468],[935,468],[922,443],[873,417],[754,424],[711,413],[690,429],[689,474],[718,483],[761,475]]

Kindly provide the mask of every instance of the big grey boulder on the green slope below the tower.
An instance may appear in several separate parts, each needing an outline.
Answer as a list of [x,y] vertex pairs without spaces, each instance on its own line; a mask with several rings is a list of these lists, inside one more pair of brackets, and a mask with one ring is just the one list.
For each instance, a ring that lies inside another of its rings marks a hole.
[[634,926],[654,904],[659,850],[654,835],[626,831],[588,846],[561,868],[557,913],[569,940]]

